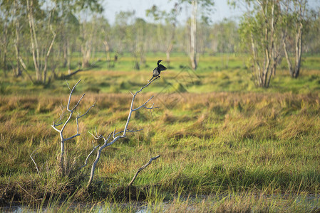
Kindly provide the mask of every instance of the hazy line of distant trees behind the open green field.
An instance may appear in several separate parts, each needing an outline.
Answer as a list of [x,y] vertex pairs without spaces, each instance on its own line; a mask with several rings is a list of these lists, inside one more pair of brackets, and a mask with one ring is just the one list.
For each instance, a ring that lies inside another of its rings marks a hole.
[[[75,52],[81,53],[82,68],[91,65],[96,52],[104,52],[107,61],[116,60],[110,52],[130,53],[138,68],[147,52],[167,53],[170,61],[170,52],[190,50],[190,20],[177,23],[175,18],[156,19],[151,13],[150,20],[144,20],[134,11],[122,11],[110,25],[94,0],[0,0],[0,6],[0,69],[13,70],[17,76],[35,70],[33,81],[46,82],[48,70],[57,67],[71,72]],[[312,30],[304,35],[304,53],[320,53],[320,19],[316,13],[313,17],[308,23]],[[244,53],[238,28],[237,20],[198,20],[197,53]]]

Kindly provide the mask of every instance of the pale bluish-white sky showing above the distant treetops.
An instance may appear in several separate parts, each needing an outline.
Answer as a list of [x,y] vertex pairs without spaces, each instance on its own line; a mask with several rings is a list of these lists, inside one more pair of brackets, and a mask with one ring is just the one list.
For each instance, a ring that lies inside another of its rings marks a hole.
[[[145,16],[145,11],[153,5],[158,6],[160,10],[170,11],[174,4],[174,0],[103,0],[103,7],[105,8],[103,16],[105,16],[110,23],[114,23],[115,14],[119,11],[135,10],[135,16],[137,18],[143,18],[148,21],[148,18]],[[224,18],[235,18],[241,15],[242,11],[240,9],[229,8],[227,0],[215,0],[214,11],[210,15],[210,20],[216,23],[222,21]],[[185,21],[186,18],[185,8],[182,8],[182,15],[179,17],[180,23]]]

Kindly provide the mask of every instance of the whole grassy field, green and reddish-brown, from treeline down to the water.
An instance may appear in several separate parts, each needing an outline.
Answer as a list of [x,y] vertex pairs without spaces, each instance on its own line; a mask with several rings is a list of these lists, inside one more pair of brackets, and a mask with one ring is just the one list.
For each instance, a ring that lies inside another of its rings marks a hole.
[[[138,200],[154,212],[319,211],[319,56],[305,58],[296,80],[282,65],[271,87],[262,89],[254,87],[244,58],[237,55],[202,56],[196,72],[187,68],[185,55],[172,55],[170,69],[135,103],[154,95],[153,103],[160,108],[133,114],[130,129],[143,131],[128,133],[128,138],[105,148],[93,186],[85,190],[91,165],[76,176],[73,171],[93,148],[88,131],[97,129],[107,136],[123,129],[132,99],[129,91],[146,84],[159,58],[165,55],[148,54],[147,64],[137,71],[133,59],[123,55],[111,69],[100,61],[68,79],[71,86],[82,80],[73,97],[76,103],[86,93],[79,111],[93,102],[96,107],[81,118],[81,136],[66,142],[70,173],[63,178],[56,170],[59,136],[50,125],[67,103],[66,82],[53,80],[43,87],[2,72],[1,203],[42,207],[52,200],[104,200],[103,208],[130,212],[135,207],[114,205]],[[75,132],[73,122],[66,134]],[[29,157],[36,148],[33,158],[41,177]],[[138,168],[155,155],[161,157],[128,189]],[[170,202],[164,206],[163,201]]]

